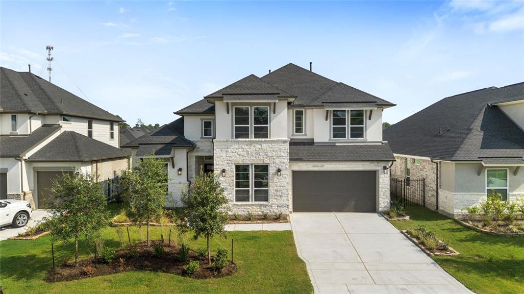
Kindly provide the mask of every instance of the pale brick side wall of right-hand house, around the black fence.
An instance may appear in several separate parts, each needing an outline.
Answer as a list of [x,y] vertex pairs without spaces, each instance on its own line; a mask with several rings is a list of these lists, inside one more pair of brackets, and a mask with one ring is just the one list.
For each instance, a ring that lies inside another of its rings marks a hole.
[[[395,156],[395,158],[397,161],[391,167],[391,177],[406,178],[406,160],[413,159],[402,156]],[[436,167],[429,159],[421,159],[420,161],[420,165],[411,162],[410,176],[411,178],[425,179],[425,206],[434,210],[436,209]]]

